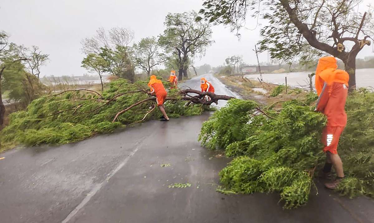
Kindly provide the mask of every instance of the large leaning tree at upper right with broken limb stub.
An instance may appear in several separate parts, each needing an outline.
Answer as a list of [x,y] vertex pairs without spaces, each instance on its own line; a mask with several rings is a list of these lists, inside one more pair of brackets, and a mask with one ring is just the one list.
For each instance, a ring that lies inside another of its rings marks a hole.
[[[288,62],[305,59],[301,53],[306,51],[317,57],[331,54],[344,62],[349,87],[355,89],[356,56],[374,37],[373,8],[359,13],[360,3],[362,0],[205,0],[200,13],[209,22],[230,25],[237,32],[245,26],[248,9],[254,11],[252,16],[261,14],[269,25],[260,30],[260,51],[269,50],[273,60]],[[261,12],[261,8],[267,10]]]

